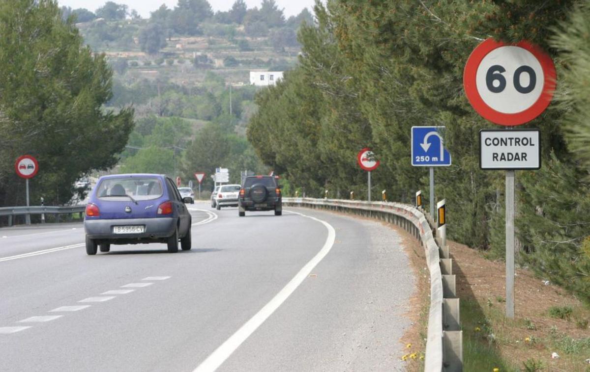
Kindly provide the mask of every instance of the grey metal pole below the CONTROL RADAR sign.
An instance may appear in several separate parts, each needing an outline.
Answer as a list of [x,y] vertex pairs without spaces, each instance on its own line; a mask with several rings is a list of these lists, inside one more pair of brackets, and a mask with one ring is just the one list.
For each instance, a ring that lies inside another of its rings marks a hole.
[[514,318],[514,171],[506,171],[506,317]]

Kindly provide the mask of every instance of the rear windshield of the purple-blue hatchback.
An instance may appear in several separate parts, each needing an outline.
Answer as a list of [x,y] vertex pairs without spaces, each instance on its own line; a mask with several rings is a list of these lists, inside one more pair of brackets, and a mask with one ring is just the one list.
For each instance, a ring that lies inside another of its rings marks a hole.
[[155,177],[106,178],[100,181],[96,195],[99,198],[117,200],[129,195],[135,200],[157,199],[162,196],[162,182]]

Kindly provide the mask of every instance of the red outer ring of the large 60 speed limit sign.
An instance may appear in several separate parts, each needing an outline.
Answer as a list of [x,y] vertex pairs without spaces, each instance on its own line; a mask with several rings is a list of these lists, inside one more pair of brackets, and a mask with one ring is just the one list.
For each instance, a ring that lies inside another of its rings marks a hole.
[[[497,111],[484,101],[480,92],[477,90],[477,70],[481,62],[490,52],[501,47],[526,49],[526,51],[530,52],[537,59],[543,70],[543,90],[539,98],[532,105],[520,112],[506,113]],[[525,124],[545,111],[553,98],[553,92],[555,92],[556,76],[555,65],[552,59],[536,45],[528,41],[521,41],[517,44],[506,44],[490,38],[481,42],[467,59],[467,64],[463,72],[463,87],[469,103],[484,119],[500,125],[513,126]]]

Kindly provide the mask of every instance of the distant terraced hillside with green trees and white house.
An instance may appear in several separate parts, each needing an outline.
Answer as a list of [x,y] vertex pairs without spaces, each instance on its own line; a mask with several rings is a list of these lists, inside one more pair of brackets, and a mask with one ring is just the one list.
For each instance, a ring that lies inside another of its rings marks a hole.
[[274,0],[250,9],[236,0],[218,12],[207,0],[179,0],[149,19],[112,1],[95,12],[62,11],[64,19],[77,19],[86,43],[104,53],[115,72],[107,107],[135,108],[136,128],[117,171],[190,180],[195,171],[228,167],[232,181],[239,181],[240,170],[267,171],[245,138],[260,89],[250,85],[250,71],[296,66],[297,31],[314,22],[307,9],[286,18]]

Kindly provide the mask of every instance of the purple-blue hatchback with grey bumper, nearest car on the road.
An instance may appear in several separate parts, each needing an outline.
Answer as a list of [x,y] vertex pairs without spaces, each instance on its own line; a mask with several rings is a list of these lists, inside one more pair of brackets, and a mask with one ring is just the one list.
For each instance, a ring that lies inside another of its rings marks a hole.
[[99,179],[86,205],[86,253],[111,244],[166,243],[168,251],[191,249],[191,214],[171,178],[117,174]]

